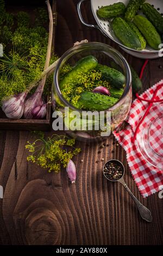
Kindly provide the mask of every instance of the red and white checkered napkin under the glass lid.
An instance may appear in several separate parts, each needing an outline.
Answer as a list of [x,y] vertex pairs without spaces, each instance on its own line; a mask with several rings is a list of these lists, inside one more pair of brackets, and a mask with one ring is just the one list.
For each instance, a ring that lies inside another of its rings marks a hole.
[[[152,99],[156,87],[161,83],[163,83],[163,80],[146,90],[146,92],[144,92],[141,97],[145,99]],[[155,100],[162,98],[163,86],[158,91]],[[137,142],[131,142],[131,138],[134,136],[136,126],[139,124],[139,121],[148,108],[148,104],[148,102],[136,99],[131,105],[131,109],[128,115],[127,122],[129,125],[125,130],[120,132],[114,131],[115,138],[122,145],[124,150],[126,150],[127,161],[131,170],[131,174],[133,175],[136,185],[143,197],[148,197],[151,194],[160,191],[163,185],[163,171],[153,167],[152,164],[148,163],[141,155],[137,146]],[[163,103],[153,103],[153,107],[150,109],[147,117],[141,124],[137,136],[140,136],[140,133],[143,132],[146,124],[149,123],[149,121],[153,121],[161,112],[163,112]],[[159,124],[158,129],[162,129]],[[154,144],[156,150],[163,150],[163,139],[162,141],[158,139],[158,137],[156,137],[156,131],[153,132],[153,134],[151,132],[150,136],[151,143]]]

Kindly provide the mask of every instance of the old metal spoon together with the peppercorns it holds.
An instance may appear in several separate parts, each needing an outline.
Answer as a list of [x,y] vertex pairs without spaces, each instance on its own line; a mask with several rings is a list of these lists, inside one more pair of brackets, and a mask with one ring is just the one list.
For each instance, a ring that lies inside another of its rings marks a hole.
[[142,205],[139,202],[139,200],[137,200],[137,198],[129,190],[128,186],[124,182],[124,179],[123,179],[124,166],[123,166],[122,162],[120,162],[118,160],[115,160],[115,159],[109,160],[108,162],[106,162],[104,164],[103,174],[104,174],[105,178],[108,179],[109,181],[118,181],[118,182],[120,182],[126,188],[126,190],[129,192],[131,198],[133,198],[133,200],[134,200],[135,204],[137,205],[137,208],[138,208],[138,210],[140,212],[140,215],[143,218],[143,220],[145,220],[147,222],[152,222],[151,211],[149,211],[146,208],[146,206]]

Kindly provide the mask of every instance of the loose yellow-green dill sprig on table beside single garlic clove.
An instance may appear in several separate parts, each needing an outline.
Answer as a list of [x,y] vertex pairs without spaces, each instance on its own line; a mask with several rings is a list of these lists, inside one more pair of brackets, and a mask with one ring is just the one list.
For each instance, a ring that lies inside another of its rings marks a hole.
[[61,167],[66,167],[72,157],[80,152],[79,148],[73,147],[75,140],[64,135],[53,135],[45,139],[42,133],[39,139],[27,143],[25,147],[31,153],[27,160],[48,169],[48,172],[58,173]]

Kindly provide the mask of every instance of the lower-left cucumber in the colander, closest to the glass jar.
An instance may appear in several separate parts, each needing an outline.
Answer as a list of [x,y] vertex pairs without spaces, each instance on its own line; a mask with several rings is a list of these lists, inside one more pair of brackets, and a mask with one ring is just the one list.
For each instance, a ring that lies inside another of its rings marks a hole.
[[112,29],[123,45],[135,50],[142,50],[139,37],[134,33],[133,29],[130,28],[125,20],[120,17],[115,18],[112,21]]

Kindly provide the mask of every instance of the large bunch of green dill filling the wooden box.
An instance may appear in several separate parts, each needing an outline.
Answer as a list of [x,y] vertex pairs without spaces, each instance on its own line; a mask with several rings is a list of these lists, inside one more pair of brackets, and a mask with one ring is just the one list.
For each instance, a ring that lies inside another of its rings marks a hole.
[[[24,11],[7,13],[0,0],[0,42],[4,55],[0,58],[0,101],[4,96],[23,92],[43,71],[48,45],[48,11],[35,10],[35,22]],[[51,63],[57,60],[54,54]],[[46,81],[43,94],[48,94],[52,76]],[[32,90],[31,93],[34,92]]]

